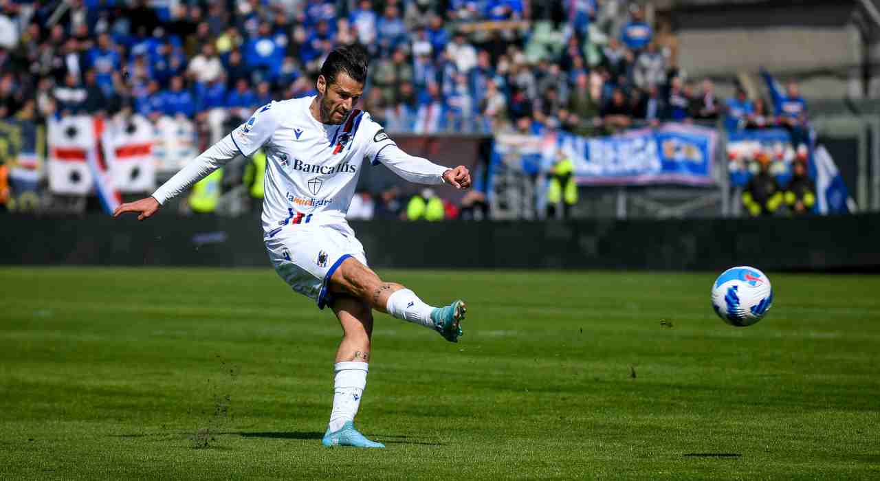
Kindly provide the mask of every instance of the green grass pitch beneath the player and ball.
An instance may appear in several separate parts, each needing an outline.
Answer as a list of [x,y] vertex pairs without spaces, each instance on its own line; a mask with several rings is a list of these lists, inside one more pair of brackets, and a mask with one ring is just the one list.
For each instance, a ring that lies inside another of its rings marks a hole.
[[880,277],[771,273],[734,328],[714,273],[381,274],[469,317],[377,315],[363,451],[320,445],[332,313],[268,267],[0,269],[0,479],[880,477]]

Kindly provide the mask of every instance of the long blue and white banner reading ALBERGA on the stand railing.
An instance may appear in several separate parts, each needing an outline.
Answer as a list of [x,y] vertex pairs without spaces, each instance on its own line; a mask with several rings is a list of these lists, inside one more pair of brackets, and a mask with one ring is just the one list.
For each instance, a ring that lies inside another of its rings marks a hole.
[[561,157],[575,164],[575,179],[585,186],[646,184],[711,185],[717,145],[714,128],[664,124],[620,135],[587,138],[567,132],[495,137],[495,163],[503,161],[529,173],[550,171]]

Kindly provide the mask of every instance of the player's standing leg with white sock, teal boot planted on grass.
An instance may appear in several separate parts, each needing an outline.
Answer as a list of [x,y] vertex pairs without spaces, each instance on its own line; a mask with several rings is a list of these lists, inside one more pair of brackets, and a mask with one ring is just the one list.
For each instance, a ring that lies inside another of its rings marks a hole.
[[325,446],[385,448],[355,429],[354,421],[367,386],[373,316],[370,306],[347,295],[334,299],[333,310],[342,327],[342,340],[334,364],[333,411],[322,443]]

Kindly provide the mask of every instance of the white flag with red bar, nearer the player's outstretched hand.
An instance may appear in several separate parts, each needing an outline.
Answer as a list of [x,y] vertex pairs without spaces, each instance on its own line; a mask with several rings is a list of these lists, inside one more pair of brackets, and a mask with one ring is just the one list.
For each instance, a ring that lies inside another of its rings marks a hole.
[[114,186],[121,193],[151,193],[156,187],[156,135],[150,120],[141,115],[117,117],[106,128],[112,139],[105,147],[110,147],[106,157]]

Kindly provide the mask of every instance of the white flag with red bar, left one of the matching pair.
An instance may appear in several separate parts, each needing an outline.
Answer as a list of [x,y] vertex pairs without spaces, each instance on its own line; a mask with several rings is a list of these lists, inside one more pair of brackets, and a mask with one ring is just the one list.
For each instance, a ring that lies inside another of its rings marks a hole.
[[91,117],[76,115],[48,121],[49,190],[67,195],[92,191],[92,171],[86,157],[96,142]]

